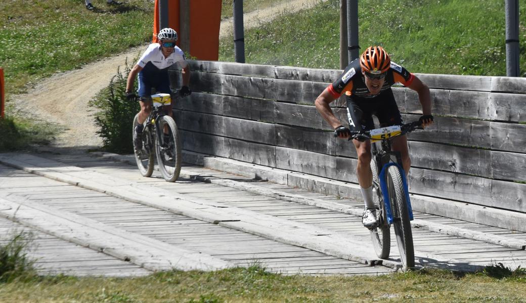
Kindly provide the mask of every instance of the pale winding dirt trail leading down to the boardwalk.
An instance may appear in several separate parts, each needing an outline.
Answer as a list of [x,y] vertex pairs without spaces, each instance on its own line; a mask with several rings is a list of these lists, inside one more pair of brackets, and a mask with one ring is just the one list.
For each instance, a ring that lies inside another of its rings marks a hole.
[[[259,26],[283,12],[296,12],[325,0],[292,0],[266,9],[244,15],[245,29]],[[221,22],[220,37],[232,32],[232,20]],[[43,80],[34,89],[23,95],[12,96],[14,110],[24,112],[42,120],[60,124],[65,131],[60,133],[44,150],[64,152],[68,149],[84,151],[102,145],[102,139],[95,133],[93,108],[87,103],[97,92],[105,88],[115,76],[117,68],[133,65],[146,45],[127,50],[125,53],[106,58],[81,69],[64,72]],[[27,101],[31,100],[31,101]],[[11,102],[10,102],[11,103]]]

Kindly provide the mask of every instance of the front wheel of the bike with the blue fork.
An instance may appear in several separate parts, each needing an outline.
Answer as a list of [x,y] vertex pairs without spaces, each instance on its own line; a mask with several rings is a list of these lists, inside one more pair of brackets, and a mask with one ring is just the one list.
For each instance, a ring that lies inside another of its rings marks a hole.
[[409,221],[406,188],[403,186],[402,175],[397,166],[389,166],[387,181],[400,259],[404,268],[412,268],[414,267],[413,234]]

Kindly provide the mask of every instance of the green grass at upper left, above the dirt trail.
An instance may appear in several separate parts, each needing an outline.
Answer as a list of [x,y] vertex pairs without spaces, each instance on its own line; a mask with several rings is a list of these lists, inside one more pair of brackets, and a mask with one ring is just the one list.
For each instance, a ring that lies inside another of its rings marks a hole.
[[0,2],[0,66],[6,91],[23,92],[58,71],[79,68],[151,39],[151,2],[95,6],[92,12],[81,0]]

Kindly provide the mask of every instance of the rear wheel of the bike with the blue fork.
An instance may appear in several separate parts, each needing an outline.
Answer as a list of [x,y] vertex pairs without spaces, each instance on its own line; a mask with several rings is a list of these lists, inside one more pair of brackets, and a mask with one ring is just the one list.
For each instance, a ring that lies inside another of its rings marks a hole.
[[391,252],[391,233],[390,226],[387,224],[387,215],[383,206],[383,196],[380,190],[380,179],[378,178],[378,169],[376,159],[371,159],[372,171],[372,197],[375,202],[379,225],[376,228],[369,229],[371,234],[372,246],[375,248],[376,255],[380,259],[387,259]]

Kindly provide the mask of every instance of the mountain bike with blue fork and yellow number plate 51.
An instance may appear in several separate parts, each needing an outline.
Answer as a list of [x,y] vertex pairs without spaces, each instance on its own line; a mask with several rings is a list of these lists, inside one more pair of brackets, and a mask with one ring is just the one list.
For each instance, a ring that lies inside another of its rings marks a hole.
[[401,155],[400,152],[391,150],[391,139],[417,129],[422,129],[418,121],[365,132],[351,131],[353,136],[361,135],[370,139],[372,143],[372,191],[378,220],[378,226],[369,229],[373,247],[380,259],[389,257],[392,224],[404,268],[414,267],[410,223],[413,220],[413,212]]

